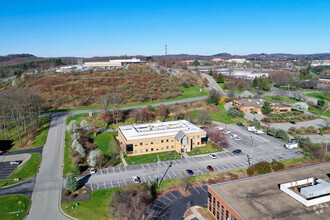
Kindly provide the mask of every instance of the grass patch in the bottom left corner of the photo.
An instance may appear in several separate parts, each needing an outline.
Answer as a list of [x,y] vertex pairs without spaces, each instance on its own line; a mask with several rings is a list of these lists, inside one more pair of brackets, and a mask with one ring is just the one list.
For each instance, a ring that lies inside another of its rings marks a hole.
[[23,195],[1,196],[0,219],[23,219],[30,207],[30,203],[30,199]]

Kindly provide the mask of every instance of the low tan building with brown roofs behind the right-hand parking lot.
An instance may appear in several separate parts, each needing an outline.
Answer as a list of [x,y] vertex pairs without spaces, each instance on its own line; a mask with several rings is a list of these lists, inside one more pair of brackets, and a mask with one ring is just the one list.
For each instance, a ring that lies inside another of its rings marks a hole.
[[257,114],[262,114],[261,108],[265,101],[271,103],[273,112],[276,113],[286,113],[291,111],[291,106],[285,105],[279,102],[271,102],[269,100],[263,99],[239,99],[234,100],[233,104],[237,105],[239,110],[245,113],[249,113],[251,111],[257,112]]

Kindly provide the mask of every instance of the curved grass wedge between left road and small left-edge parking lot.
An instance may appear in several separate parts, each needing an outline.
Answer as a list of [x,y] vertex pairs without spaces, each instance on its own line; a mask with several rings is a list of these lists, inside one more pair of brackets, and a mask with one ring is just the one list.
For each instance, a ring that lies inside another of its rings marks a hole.
[[[0,187],[22,182],[38,173],[38,166],[41,162],[41,155],[38,153],[30,154],[31,157],[28,161],[26,161],[22,166],[18,167],[6,180],[0,181]],[[14,178],[20,178],[20,181],[14,182]]]

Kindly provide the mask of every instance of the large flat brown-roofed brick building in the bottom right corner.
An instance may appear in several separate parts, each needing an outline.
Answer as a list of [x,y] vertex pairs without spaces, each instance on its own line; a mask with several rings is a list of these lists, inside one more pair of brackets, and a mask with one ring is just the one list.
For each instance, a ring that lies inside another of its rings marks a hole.
[[329,176],[326,163],[209,185],[207,211],[217,220],[327,220]]

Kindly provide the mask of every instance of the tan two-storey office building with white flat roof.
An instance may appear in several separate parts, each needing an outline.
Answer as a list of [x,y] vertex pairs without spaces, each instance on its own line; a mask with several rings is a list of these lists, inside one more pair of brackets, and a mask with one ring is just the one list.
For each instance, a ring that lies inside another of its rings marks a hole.
[[118,141],[127,156],[175,150],[190,152],[205,146],[206,131],[186,120],[118,127]]

